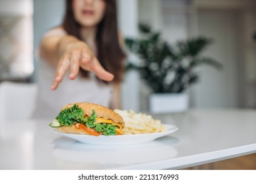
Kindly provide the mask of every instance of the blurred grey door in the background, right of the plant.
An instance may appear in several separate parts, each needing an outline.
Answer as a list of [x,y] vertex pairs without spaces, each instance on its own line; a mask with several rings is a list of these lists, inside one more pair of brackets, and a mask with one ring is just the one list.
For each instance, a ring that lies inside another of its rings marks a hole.
[[238,107],[238,27],[233,12],[220,10],[200,11],[199,34],[213,39],[203,55],[223,64],[218,71],[209,66],[200,69],[196,84],[194,105],[197,108]]

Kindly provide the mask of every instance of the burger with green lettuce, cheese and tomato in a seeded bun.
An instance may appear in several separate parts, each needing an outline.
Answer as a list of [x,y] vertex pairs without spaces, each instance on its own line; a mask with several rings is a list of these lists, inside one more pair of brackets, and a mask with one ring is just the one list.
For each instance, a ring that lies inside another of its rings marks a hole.
[[62,133],[122,135],[125,123],[114,110],[94,103],[72,103],[62,107],[51,127]]

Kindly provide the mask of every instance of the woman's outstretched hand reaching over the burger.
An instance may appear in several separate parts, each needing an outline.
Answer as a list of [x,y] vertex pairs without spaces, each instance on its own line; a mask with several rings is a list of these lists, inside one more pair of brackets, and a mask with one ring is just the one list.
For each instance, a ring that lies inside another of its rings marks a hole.
[[85,71],[92,71],[98,78],[111,81],[114,75],[106,71],[95,57],[91,49],[83,41],[76,41],[69,44],[62,58],[58,61],[54,75],[52,90],[56,90],[64,75],[69,71],[70,80],[74,80],[79,73],[79,68]]

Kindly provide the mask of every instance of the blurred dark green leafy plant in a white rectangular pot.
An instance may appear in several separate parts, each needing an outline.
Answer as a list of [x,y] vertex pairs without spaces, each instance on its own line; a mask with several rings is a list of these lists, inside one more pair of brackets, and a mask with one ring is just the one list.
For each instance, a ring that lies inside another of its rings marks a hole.
[[[182,111],[188,108],[186,90],[198,82],[195,69],[207,64],[217,69],[221,63],[215,59],[201,56],[211,39],[195,37],[178,41],[171,45],[154,32],[148,25],[139,25],[141,37],[126,38],[125,45],[130,52],[137,54],[140,63],[129,61],[127,70],[137,69],[142,80],[150,88],[150,110],[152,112]],[[160,105],[156,104],[160,100]]]

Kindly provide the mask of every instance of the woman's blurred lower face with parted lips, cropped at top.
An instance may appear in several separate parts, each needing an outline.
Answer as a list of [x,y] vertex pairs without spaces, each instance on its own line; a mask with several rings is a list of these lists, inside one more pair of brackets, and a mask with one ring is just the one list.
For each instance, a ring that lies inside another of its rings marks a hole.
[[95,27],[103,18],[105,0],[73,0],[75,20],[83,27]]

